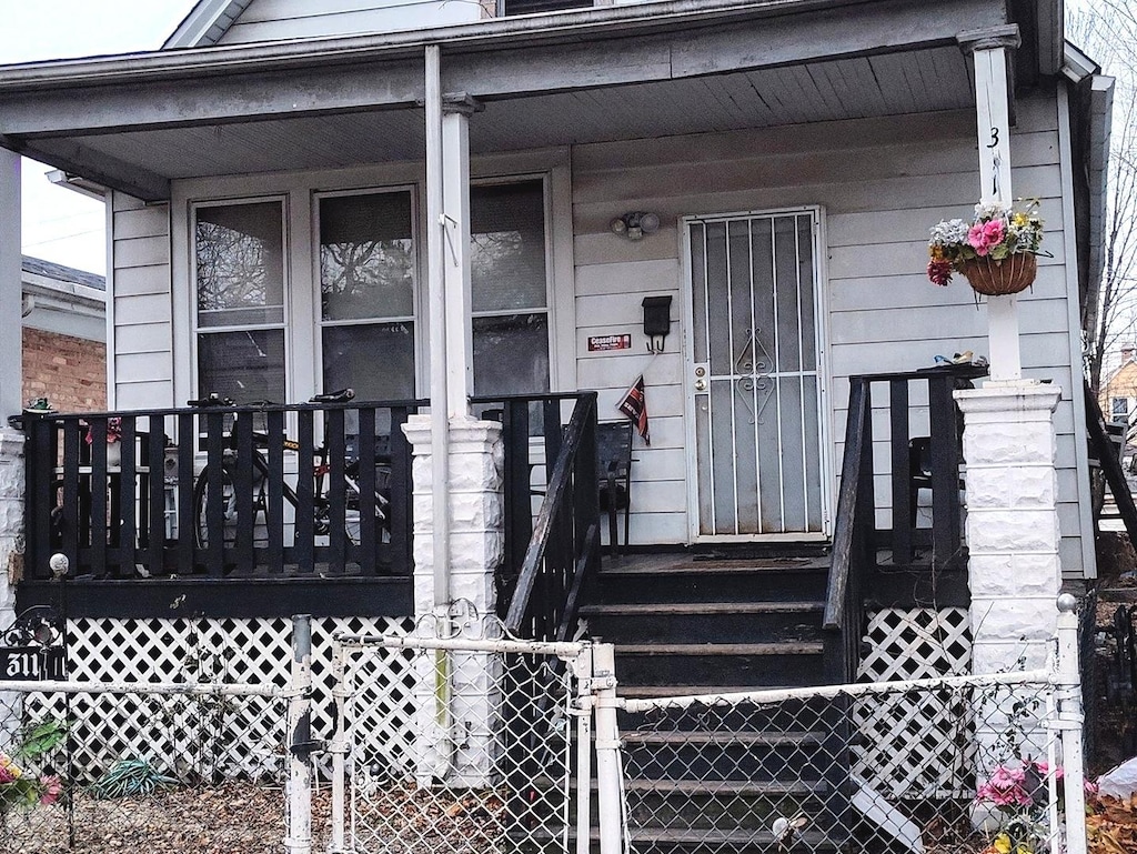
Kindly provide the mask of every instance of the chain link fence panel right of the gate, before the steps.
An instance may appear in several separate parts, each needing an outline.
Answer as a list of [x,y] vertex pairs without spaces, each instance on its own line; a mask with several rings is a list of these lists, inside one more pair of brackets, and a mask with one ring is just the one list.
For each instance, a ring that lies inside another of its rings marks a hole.
[[638,702],[632,849],[1057,852],[1053,687],[1009,679]]

